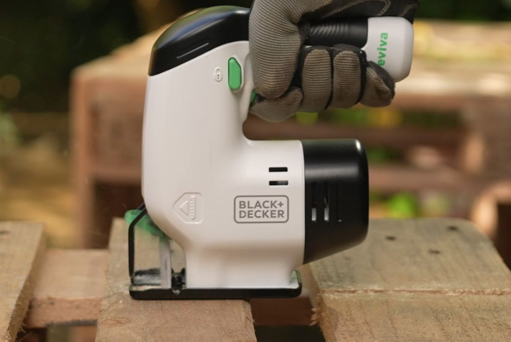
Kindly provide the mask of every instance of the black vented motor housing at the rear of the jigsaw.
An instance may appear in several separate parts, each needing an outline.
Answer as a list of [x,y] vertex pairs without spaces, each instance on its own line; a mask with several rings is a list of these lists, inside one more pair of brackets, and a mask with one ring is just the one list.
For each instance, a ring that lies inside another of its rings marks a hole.
[[355,139],[302,140],[305,166],[304,263],[358,245],[367,235],[367,157]]

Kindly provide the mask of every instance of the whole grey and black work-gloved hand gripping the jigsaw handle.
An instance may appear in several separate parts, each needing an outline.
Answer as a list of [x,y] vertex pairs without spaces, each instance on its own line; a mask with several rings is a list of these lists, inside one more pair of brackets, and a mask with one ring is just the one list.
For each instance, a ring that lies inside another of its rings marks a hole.
[[[390,104],[388,72],[352,45],[303,47],[310,21],[326,18],[402,16],[413,21],[419,0],[254,0],[249,43],[258,93],[250,112],[281,121],[297,111]],[[298,66],[300,66],[298,68]],[[296,70],[301,88],[291,85]]]

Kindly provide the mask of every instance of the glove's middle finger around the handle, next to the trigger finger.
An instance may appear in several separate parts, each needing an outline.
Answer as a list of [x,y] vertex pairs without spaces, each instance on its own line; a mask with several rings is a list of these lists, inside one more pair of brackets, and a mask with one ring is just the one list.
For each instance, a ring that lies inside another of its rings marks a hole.
[[332,93],[330,48],[307,46],[300,54],[299,74],[304,99],[300,111],[317,112],[328,106]]

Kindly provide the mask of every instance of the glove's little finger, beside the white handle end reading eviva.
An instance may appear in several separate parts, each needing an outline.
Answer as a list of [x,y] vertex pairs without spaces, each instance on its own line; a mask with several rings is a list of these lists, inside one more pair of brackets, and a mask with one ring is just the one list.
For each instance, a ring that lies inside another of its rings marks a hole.
[[390,105],[395,94],[394,81],[387,70],[375,62],[368,62],[365,79],[364,93],[360,103],[370,107]]

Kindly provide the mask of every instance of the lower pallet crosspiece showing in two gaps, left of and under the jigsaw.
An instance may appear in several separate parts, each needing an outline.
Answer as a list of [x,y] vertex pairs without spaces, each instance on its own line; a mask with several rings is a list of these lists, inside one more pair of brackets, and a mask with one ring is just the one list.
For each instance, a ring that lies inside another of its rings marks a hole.
[[[96,325],[106,283],[108,255],[106,249],[48,250],[24,326],[34,329],[52,325]],[[312,305],[303,280],[304,290],[297,298],[251,300],[254,323],[258,326],[309,325]]]

